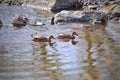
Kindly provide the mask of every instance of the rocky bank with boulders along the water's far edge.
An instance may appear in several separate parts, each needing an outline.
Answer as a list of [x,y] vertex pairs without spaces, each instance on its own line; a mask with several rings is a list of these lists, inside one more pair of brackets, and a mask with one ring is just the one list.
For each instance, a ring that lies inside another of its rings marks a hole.
[[0,0],[0,3],[57,12],[52,24],[59,22],[103,24],[107,23],[107,20],[120,22],[119,0]]

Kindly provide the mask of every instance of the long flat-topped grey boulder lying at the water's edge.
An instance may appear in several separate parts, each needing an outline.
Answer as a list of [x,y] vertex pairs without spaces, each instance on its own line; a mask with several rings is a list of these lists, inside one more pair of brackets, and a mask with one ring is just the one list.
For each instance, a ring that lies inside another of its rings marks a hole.
[[65,22],[107,22],[107,15],[104,12],[96,11],[61,11],[54,15],[54,23]]

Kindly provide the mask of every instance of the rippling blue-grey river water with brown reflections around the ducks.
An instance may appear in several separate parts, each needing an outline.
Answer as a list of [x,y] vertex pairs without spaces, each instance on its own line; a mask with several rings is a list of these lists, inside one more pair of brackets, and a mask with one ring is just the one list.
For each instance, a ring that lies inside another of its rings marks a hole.
[[[46,25],[16,28],[10,24],[16,14]],[[120,23],[109,21],[94,28],[80,23],[51,25],[52,16],[46,11],[0,5],[4,25],[0,29],[0,80],[120,80]],[[35,43],[31,37],[36,32],[56,37],[73,31],[79,35],[75,43],[55,39],[51,46]]]

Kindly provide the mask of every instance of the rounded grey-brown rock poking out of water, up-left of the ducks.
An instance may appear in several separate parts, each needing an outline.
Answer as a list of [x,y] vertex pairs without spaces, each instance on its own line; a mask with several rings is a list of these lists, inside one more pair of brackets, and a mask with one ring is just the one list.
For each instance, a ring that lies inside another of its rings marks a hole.
[[27,22],[29,22],[28,18],[22,15],[16,15],[12,20],[13,26],[16,27],[26,26]]

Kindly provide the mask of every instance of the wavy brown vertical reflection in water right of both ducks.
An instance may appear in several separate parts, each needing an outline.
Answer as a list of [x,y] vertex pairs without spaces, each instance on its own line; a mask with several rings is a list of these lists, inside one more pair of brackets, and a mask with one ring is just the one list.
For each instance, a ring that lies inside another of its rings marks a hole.
[[91,51],[91,48],[93,47],[94,42],[91,39],[91,31],[85,30],[86,34],[86,42],[88,43],[88,47],[86,49],[87,52],[87,59],[85,59],[83,62],[88,65],[84,66],[85,72],[83,73],[86,80],[101,80],[100,78],[100,71],[95,64],[97,62],[96,58],[93,58],[94,52]]

